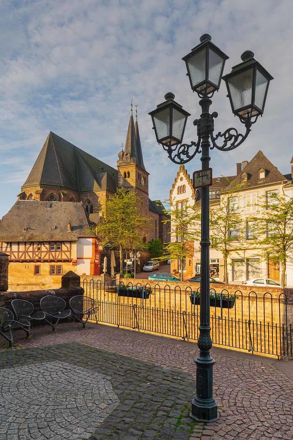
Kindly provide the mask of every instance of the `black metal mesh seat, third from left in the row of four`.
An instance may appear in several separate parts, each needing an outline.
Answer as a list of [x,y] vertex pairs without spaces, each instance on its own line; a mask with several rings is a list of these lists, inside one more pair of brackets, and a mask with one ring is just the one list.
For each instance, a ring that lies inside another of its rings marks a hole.
[[58,325],[60,319],[66,319],[71,310],[66,309],[66,302],[57,296],[44,296],[40,301],[41,310],[45,313],[45,321],[50,324],[52,331]]

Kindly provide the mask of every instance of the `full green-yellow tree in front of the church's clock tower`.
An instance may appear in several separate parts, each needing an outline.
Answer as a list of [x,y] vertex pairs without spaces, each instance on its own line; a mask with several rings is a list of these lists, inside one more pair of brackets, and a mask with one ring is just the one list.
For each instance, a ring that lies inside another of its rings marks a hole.
[[102,244],[118,247],[120,272],[123,271],[123,250],[143,249],[142,237],[147,230],[149,219],[140,214],[141,200],[134,192],[117,189],[106,204],[106,216],[95,228]]

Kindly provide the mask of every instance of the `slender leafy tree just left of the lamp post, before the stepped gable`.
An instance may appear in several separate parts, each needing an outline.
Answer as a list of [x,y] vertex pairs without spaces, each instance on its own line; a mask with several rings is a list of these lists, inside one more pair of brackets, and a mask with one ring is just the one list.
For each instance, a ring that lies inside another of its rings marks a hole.
[[190,206],[186,202],[176,203],[171,200],[165,209],[169,216],[164,223],[171,223],[171,242],[167,243],[160,260],[175,259],[181,268],[180,281],[183,281],[183,267],[187,258],[194,254],[194,241],[201,234],[201,214],[196,205]]

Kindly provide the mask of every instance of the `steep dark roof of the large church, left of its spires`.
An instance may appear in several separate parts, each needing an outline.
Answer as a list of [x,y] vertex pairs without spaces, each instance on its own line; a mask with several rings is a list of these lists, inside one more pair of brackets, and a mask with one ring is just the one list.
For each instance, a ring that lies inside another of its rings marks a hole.
[[73,191],[115,191],[117,170],[49,132],[37,160],[23,184],[60,186]]

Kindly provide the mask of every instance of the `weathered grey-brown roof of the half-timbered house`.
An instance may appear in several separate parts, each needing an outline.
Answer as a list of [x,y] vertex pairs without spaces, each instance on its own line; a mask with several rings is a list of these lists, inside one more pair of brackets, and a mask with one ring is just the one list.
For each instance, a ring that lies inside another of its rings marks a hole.
[[81,203],[18,200],[0,222],[0,241],[76,241],[92,237],[89,229]]

